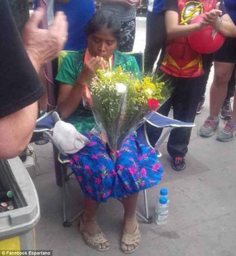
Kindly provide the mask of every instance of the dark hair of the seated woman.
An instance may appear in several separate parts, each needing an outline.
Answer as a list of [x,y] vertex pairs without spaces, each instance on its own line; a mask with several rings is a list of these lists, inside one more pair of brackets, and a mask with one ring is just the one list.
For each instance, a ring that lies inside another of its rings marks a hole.
[[112,35],[119,41],[121,38],[121,24],[118,17],[110,11],[98,10],[95,15],[93,15],[86,26],[87,37],[101,30],[104,26],[110,29]]

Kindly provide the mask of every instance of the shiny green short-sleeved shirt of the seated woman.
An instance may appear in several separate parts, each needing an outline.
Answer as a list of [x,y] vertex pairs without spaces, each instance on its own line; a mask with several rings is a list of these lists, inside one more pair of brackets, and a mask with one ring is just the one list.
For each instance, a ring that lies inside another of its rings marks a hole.
[[[69,52],[61,63],[56,79],[61,83],[73,86],[83,69],[84,54],[85,50]],[[112,69],[118,66],[141,78],[137,61],[133,56],[115,51]],[[77,110],[65,121],[72,123],[78,132],[89,132],[96,124],[92,111],[82,105],[79,105]]]

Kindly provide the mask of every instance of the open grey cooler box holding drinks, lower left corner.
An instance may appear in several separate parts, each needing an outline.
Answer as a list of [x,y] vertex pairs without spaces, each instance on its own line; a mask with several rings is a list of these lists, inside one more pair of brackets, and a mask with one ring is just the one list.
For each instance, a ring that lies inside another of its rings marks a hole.
[[0,160],[0,181],[13,192],[14,206],[13,210],[0,213],[0,250],[34,250],[39,200],[19,157]]

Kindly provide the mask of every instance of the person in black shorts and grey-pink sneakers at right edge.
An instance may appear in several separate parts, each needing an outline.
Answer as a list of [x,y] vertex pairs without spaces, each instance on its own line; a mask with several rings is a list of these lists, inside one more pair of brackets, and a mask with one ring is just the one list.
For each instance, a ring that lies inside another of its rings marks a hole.
[[[226,7],[227,12],[229,13],[230,18],[233,20],[234,24],[236,24],[236,1],[224,0],[224,5]],[[227,37],[222,47],[216,53],[214,53],[213,60],[214,79],[210,89],[210,115],[204,121],[204,124],[201,126],[199,130],[199,135],[206,138],[213,136],[214,131],[218,129],[220,123],[219,114],[221,107],[224,106],[225,101],[227,105],[230,106],[230,97],[234,95],[235,82],[233,82],[233,84],[231,84],[230,86],[231,92],[229,91],[227,93],[227,88],[229,85],[230,78],[232,78],[232,74],[235,72],[233,69],[236,63],[236,38]],[[235,74],[233,74],[233,76],[235,76]],[[235,81],[234,77],[233,81]],[[230,116],[232,116],[232,113],[230,114]],[[235,133],[236,118],[235,113],[233,113],[233,119],[229,119],[229,121],[224,126],[223,130],[221,130],[220,134],[217,135],[217,140],[223,142],[233,140]]]

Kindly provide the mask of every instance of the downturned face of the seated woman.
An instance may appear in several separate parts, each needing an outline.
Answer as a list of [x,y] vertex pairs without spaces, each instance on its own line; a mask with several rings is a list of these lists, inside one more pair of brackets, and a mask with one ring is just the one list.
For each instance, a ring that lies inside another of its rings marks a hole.
[[99,56],[108,60],[117,48],[117,39],[110,29],[103,26],[101,30],[89,35],[87,47],[93,57]]

